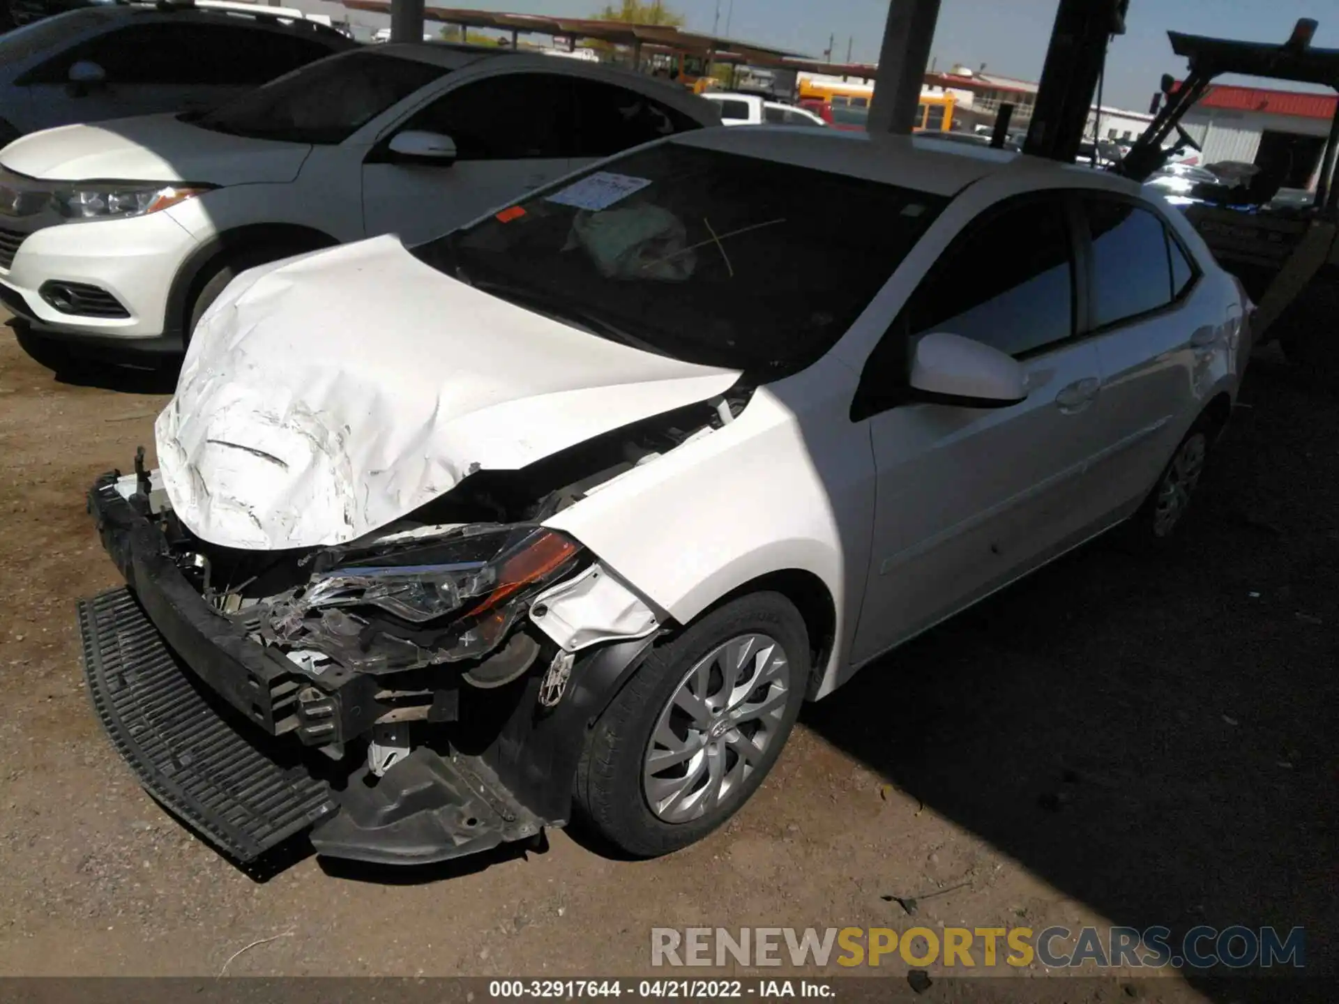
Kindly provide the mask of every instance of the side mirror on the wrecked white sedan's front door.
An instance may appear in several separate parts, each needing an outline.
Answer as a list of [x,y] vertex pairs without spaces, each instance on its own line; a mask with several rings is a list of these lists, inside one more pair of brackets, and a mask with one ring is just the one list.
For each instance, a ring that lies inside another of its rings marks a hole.
[[933,404],[1007,408],[1027,398],[1027,371],[998,348],[939,332],[916,343],[911,387]]

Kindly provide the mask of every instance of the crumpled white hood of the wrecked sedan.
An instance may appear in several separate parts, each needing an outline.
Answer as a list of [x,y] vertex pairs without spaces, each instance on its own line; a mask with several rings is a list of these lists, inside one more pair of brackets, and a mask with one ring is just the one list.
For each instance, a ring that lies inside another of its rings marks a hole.
[[524,467],[738,376],[552,321],[378,237],[224,292],[158,416],[158,462],[206,541],[341,543],[474,470]]

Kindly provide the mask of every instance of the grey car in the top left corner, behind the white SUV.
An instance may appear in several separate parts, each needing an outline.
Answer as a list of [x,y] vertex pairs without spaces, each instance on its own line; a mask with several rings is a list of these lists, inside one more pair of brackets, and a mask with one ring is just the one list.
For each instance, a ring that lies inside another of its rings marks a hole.
[[71,122],[209,108],[353,44],[292,8],[67,11],[0,35],[0,146]]

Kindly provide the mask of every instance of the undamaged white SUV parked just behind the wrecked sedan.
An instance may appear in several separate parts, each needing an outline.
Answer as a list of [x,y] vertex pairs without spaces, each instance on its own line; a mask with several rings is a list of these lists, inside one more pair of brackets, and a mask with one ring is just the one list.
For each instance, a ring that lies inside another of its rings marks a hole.
[[577,60],[363,47],[202,116],[11,143],[0,300],[58,368],[70,349],[177,353],[246,268],[382,233],[426,241],[596,158],[719,122],[683,88]]

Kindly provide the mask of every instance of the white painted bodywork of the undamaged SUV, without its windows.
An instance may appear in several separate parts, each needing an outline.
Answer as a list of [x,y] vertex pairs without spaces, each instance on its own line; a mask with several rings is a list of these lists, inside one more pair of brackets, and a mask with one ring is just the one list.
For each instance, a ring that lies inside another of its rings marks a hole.
[[[327,244],[395,233],[406,242],[435,237],[521,193],[590,163],[592,157],[459,159],[454,165],[391,162],[374,151],[412,116],[471,84],[522,75],[545,80],[595,80],[649,99],[703,126],[719,123],[715,107],[648,76],[580,60],[509,52],[479,54],[443,46],[386,44],[348,56],[410,59],[441,70],[432,82],[374,115],[340,143],[296,143],[229,135],[173,115],[67,126],[20,139],[0,151],[5,173],[23,183],[86,178],[162,181],[216,186],[169,209],[129,220],[63,224],[58,218],[7,218],[0,228],[31,230],[0,284],[27,304],[31,320],[60,333],[179,345],[189,332],[185,313],[169,313],[174,286],[189,285],[187,260],[242,228],[285,225],[324,236]],[[340,59],[344,56],[336,56]],[[321,66],[321,64],[317,64]],[[497,123],[499,131],[507,123]],[[171,226],[166,226],[170,221]],[[134,237],[130,237],[134,234]],[[167,236],[158,254],[146,244]],[[125,249],[135,249],[127,274]],[[222,245],[220,244],[220,248]],[[217,258],[216,258],[217,261]],[[71,266],[74,270],[71,270]],[[47,280],[79,281],[107,289],[129,317],[72,316],[48,304]],[[178,292],[185,296],[185,289]]]

